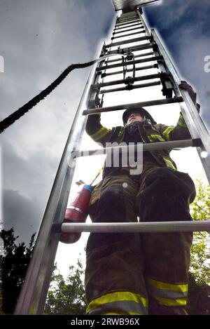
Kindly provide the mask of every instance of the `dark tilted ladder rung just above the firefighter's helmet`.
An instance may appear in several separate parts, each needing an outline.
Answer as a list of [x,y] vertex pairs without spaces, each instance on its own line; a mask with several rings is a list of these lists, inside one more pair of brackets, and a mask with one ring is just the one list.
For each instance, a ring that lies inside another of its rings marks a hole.
[[137,107],[165,105],[165,104],[172,104],[172,103],[177,103],[177,102],[183,102],[183,98],[180,96],[180,97],[166,98],[166,99],[163,98],[162,100],[147,100],[145,102],[122,104],[122,105],[115,105],[115,106],[109,106],[109,107],[99,107],[97,109],[85,109],[83,111],[83,115],[119,111],[121,109],[137,109]]

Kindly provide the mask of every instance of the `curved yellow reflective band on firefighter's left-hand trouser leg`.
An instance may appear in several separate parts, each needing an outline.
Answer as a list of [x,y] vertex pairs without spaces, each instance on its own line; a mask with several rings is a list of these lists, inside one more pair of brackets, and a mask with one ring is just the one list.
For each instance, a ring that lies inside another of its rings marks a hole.
[[143,304],[144,307],[148,307],[148,300],[139,294],[130,293],[129,291],[118,291],[116,293],[109,293],[103,295],[95,300],[92,300],[87,307],[86,313],[101,307],[103,304],[109,304],[111,302],[136,302]]

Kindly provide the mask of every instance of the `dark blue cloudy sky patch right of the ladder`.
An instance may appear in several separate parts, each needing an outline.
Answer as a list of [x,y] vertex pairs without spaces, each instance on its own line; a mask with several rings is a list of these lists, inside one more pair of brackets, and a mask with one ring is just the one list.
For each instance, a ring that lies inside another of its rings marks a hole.
[[210,55],[209,0],[162,1],[145,10],[151,27],[158,30],[183,79],[197,91],[202,119],[210,128],[210,74],[204,72],[204,58]]

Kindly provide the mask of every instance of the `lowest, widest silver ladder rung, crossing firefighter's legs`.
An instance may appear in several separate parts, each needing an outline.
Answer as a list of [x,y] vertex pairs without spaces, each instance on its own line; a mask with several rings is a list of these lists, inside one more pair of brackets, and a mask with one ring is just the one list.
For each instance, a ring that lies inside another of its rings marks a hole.
[[62,223],[53,224],[52,231],[60,233],[94,232],[94,233],[121,233],[121,232],[193,232],[210,231],[210,220],[196,222],[135,222],[135,223]]

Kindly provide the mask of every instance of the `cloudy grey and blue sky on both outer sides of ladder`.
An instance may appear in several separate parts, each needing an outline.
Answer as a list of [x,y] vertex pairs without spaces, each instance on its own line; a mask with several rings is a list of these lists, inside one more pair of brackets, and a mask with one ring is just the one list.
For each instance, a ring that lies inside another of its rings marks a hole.
[[[115,17],[111,0],[0,0],[1,119],[67,66],[95,58]],[[164,0],[144,14],[162,36],[183,79],[197,90],[210,128],[209,0]],[[27,241],[38,230],[90,69],[76,70],[1,135],[2,221]],[[119,125],[121,122],[119,121]]]

